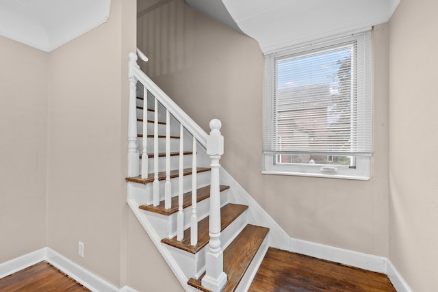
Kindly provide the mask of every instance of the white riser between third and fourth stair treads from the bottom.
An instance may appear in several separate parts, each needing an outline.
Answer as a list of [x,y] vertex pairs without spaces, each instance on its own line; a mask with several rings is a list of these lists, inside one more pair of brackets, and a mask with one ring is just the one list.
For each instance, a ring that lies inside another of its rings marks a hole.
[[[196,177],[198,188],[205,187],[210,184],[210,172],[201,172],[197,174]],[[166,180],[159,181],[159,198],[160,201],[164,200],[164,185]],[[142,183],[132,183],[129,182],[129,191],[136,198],[138,204],[152,204],[153,203],[153,183],[148,183],[146,185]],[[178,196],[179,188],[179,177],[171,178],[170,185],[172,189],[172,197]],[[183,193],[192,191],[192,176],[186,175],[183,177]]]

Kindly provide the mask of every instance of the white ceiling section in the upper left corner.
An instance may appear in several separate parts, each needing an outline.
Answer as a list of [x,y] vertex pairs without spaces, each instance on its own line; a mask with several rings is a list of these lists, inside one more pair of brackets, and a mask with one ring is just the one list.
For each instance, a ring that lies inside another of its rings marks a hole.
[[0,0],[0,36],[49,52],[109,14],[110,0]]

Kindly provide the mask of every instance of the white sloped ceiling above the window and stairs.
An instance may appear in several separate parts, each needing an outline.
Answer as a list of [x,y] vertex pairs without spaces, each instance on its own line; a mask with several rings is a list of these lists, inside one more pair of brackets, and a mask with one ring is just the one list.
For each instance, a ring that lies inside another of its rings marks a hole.
[[385,23],[400,0],[185,0],[192,8],[221,21],[227,14],[263,53]]

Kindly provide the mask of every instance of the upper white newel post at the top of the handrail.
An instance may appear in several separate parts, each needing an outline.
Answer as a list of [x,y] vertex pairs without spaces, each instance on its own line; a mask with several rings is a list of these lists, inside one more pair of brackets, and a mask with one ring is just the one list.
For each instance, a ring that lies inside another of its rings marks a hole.
[[129,52],[129,116],[128,116],[128,176],[138,176],[140,154],[137,144],[137,79],[133,68],[138,66],[137,54]]

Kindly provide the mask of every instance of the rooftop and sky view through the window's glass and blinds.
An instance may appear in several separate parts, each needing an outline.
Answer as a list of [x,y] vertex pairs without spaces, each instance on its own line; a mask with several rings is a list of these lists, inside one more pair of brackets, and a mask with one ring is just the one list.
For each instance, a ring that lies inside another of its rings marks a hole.
[[[276,163],[354,166],[355,46],[344,44],[276,61]],[[333,155],[331,152],[333,151]]]

